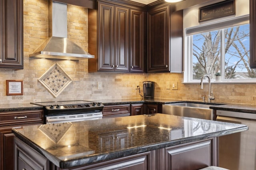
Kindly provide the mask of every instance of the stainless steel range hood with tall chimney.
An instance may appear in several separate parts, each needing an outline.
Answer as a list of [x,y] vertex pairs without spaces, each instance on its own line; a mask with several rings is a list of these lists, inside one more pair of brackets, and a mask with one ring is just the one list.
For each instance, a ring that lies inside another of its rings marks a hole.
[[67,4],[49,1],[49,38],[29,57],[63,60],[94,58],[67,38],[67,15]]

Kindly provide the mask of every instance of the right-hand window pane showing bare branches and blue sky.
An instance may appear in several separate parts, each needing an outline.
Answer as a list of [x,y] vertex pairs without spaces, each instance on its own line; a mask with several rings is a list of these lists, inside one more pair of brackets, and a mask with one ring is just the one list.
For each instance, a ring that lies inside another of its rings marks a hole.
[[250,69],[249,24],[224,29],[225,79],[256,78]]

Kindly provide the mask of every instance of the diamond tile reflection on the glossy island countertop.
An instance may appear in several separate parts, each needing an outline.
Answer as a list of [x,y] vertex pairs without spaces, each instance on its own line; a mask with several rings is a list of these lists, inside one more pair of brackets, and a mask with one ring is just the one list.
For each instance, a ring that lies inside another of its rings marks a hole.
[[68,129],[72,126],[71,122],[64,123],[48,123],[40,125],[38,129],[42,131],[47,137],[49,137],[54,143],[58,143],[60,139],[65,135]]

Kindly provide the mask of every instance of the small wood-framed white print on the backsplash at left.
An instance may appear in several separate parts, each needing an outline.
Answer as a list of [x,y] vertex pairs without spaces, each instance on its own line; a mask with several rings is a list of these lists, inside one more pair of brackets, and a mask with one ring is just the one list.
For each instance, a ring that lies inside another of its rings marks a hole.
[[23,80],[6,80],[6,95],[23,95]]

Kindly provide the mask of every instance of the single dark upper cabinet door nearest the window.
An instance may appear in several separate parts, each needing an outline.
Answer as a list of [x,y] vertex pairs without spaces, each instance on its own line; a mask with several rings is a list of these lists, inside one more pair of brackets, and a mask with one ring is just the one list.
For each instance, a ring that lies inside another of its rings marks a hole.
[[169,6],[148,12],[148,72],[169,72]]

